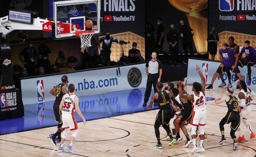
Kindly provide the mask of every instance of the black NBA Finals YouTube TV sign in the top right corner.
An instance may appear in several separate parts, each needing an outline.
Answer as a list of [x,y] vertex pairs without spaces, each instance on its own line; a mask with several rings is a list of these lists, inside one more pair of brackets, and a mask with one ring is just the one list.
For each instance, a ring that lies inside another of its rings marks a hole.
[[256,0],[208,0],[209,27],[256,35]]

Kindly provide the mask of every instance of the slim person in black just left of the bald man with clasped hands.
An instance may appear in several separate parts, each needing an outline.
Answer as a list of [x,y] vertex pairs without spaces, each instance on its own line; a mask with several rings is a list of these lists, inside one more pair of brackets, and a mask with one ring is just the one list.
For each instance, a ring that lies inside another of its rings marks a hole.
[[156,32],[156,45],[157,45],[157,50],[158,54],[163,54],[163,43],[164,43],[164,33],[165,33],[165,27],[162,24],[162,19],[158,18],[157,19],[157,32]]

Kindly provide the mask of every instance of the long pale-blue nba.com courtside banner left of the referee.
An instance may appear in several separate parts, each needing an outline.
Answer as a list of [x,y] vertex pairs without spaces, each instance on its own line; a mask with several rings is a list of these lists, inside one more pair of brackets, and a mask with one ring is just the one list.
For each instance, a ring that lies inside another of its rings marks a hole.
[[63,75],[68,76],[69,84],[75,85],[77,96],[145,88],[147,79],[145,63],[23,79],[21,80],[23,104],[55,100],[49,92],[61,83]]

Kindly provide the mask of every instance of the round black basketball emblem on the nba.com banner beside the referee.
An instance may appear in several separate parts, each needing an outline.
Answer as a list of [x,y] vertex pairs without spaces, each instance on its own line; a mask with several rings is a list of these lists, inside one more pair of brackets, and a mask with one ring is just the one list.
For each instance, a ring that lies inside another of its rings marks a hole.
[[141,71],[136,68],[132,67],[127,74],[127,80],[131,87],[136,88],[142,82],[142,73]]

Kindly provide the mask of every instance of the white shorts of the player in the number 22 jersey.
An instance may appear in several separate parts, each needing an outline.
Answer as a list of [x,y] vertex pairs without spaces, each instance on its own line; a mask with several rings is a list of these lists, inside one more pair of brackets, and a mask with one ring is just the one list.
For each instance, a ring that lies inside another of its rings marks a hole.
[[193,126],[205,126],[206,125],[206,110],[194,111],[191,118],[191,125]]

